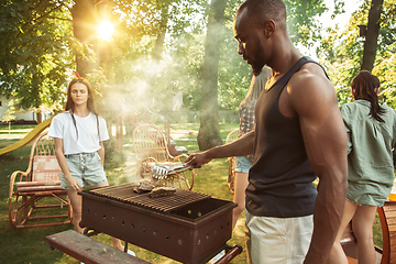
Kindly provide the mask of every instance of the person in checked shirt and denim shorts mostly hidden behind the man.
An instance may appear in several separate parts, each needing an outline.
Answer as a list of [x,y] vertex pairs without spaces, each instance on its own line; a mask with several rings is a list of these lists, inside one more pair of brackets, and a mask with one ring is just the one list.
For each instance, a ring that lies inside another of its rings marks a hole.
[[[258,76],[252,77],[246,97],[240,105],[240,136],[254,130],[254,107],[264,89],[265,82],[270,78],[272,72],[268,67],[264,67]],[[245,207],[245,189],[248,187],[249,169],[253,165],[253,155],[235,157],[235,178],[234,178],[234,198],[233,201],[238,207],[232,212],[232,229],[235,228],[239,216]]]

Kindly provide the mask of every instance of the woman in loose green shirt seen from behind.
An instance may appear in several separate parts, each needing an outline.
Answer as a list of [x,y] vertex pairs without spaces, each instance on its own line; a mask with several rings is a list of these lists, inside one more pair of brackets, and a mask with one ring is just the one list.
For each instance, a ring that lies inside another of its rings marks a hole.
[[359,263],[372,264],[376,207],[384,206],[395,179],[396,111],[378,103],[380,80],[367,70],[352,80],[351,90],[354,101],[340,107],[348,132],[348,196],[329,262],[348,264],[340,241],[352,220]]

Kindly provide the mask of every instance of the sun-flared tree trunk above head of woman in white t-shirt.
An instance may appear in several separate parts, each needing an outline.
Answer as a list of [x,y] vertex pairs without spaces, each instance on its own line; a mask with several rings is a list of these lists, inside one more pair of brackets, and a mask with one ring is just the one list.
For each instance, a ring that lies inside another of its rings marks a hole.
[[[76,0],[72,9],[74,35],[82,45],[92,44],[97,38],[95,4],[96,0]],[[81,77],[91,73],[94,67],[87,51],[76,51],[76,69]]]

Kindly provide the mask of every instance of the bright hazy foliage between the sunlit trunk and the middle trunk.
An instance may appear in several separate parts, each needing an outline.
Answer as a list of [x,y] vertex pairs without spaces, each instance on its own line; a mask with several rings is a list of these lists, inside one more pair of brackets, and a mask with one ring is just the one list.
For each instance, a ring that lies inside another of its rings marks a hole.
[[[200,0],[114,1],[118,34],[110,44],[110,63],[122,101],[111,98],[114,87],[109,86],[103,91],[107,108],[122,105],[127,116],[172,111],[173,96],[183,91],[185,107],[198,109],[205,7]],[[153,52],[165,32],[164,51],[157,59]]]

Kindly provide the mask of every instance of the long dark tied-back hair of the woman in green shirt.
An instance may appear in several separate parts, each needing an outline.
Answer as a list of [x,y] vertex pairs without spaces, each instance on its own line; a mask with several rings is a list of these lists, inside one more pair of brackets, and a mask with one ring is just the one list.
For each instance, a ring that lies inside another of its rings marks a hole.
[[380,80],[369,70],[361,70],[351,82],[355,100],[367,100],[371,102],[370,116],[378,122],[385,122],[380,114],[386,112],[378,103],[378,97],[375,89],[380,89]]

